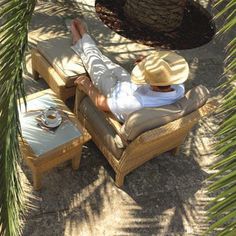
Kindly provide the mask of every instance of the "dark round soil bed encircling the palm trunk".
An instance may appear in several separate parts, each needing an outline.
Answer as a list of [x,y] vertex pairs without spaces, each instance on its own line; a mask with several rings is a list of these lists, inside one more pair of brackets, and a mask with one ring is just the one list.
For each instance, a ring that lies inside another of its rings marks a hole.
[[191,49],[208,43],[215,34],[211,14],[195,1],[187,1],[182,24],[171,32],[156,32],[130,22],[123,12],[124,4],[125,1],[96,0],[96,11],[109,28],[140,44],[158,49]]

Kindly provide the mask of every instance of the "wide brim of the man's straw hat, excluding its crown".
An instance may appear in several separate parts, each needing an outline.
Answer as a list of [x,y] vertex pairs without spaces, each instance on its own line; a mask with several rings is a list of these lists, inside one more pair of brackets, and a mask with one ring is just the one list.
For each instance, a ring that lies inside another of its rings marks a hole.
[[[162,57],[164,57],[166,54],[174,54],[175,56],[177,55],[174,52],[170,52],[170,51],[159,51],[155,53],[156,57],[159,57],[160,59]],[[178,55],[179,56],[179,55]],[[146,58],[144,58],[141,62],[139,62],[132,70],[131,72],[131,81],[135,84],[150,84],[147,82],[147,75],[145,73],[145,66],[146,63],[150,60],[150,58],[153,57],[153,55],[149,55]],[[179,56],[181,57],[181,56]],[[187,61],[181,57],[182,60],[182,69],[181,72],[178,72],[177,74],[171,74],[171,76],[166,79],[165,81],[156,81],[155,83],[152,83],[151,85],[155,85],[155,86],[167,86],[167,85],[172,85],[172,84],[182,84],[184,83],[189,75],[189,66]]]

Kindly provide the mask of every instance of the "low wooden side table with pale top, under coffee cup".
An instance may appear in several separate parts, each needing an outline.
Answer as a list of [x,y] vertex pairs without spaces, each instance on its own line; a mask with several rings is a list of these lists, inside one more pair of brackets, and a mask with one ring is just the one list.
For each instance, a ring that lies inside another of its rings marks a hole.
[[[35,119],[40,110],[51,106],[68,115],[67,120],[54,133],[38,127]],[[22,104],[19,113],[23,136],[23,139],[19,138],[20,148],[24,160],[32,170],[34,189],[41,188],[44,172],[67,160],[72,161],[74,170],[79,168],[82,146],[91,137],[51,89],[29,95],[27,111],[24,111]]]

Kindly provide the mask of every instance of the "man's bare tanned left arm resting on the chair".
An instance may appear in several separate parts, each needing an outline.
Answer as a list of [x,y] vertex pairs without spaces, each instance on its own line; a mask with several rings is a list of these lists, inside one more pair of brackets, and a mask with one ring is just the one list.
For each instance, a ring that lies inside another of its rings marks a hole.
[[110,108],[107,104],[107,98],[99,92],[99,90],[93,85],[87,76],[80,76],[75,80],[75,84],[78,85],[79,88],[90,97],[98,109],[105,112],[110,111]]

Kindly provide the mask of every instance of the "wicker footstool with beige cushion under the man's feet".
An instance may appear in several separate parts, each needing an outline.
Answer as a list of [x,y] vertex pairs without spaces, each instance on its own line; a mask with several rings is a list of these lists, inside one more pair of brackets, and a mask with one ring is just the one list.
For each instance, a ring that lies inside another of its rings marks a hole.
[[81,59],[71,49],[71,37],[41,41],[31,51],[34,79],[39,75],[57,96],[65,101],[75,95],[74,80],[85,75]]

